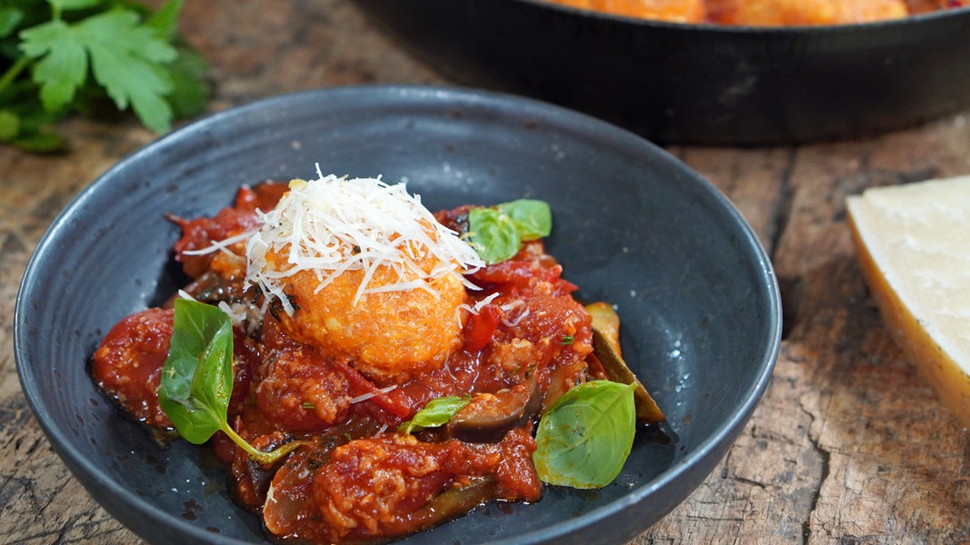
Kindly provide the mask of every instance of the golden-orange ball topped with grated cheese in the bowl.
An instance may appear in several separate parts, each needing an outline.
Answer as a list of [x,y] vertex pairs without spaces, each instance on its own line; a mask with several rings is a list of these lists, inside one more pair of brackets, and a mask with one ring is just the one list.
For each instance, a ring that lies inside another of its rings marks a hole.
[[444,365],[462,344],[469,243],[379,178],[293,180],[246,242],[246,280],[293,339],[379,385]]

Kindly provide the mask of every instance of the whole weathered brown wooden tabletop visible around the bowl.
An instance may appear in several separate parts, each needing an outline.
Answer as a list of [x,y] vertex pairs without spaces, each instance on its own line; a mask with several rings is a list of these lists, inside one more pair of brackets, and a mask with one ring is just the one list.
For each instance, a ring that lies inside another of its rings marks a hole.
[[[307,88],[452,84],[345,0],[188,2],[182,28],[210,62],[213,111]],[[786,325],[771,385],[726,459],[634,543],[970,542],[970,435],[889,337],[844,208],[868,186],[970,174],[968,117],[851,142],[668,147],[758,233]],[[20,276],[54,215],[154,135],[130,119],[61,128],[67,155],[0,147],[0,541],[138,543],[51,450],[20,392],[13,322]]]

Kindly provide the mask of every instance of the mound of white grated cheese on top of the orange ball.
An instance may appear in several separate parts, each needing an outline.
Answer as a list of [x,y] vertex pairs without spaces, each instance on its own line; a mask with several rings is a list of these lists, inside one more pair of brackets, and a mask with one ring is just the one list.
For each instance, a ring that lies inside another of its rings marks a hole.
[[[342,272],[363,271],[355,305],[368,293],[425,289],[436,294],[430,282],[449,274],[474,288],[463,273],[485,263],[467,241],[436,221],[420,196],[408,194],[404,183],[323,176],[319,166],[317,176],[292,180],[276,208],[257,212],[262,227],[246,241],[246,281],[262,289],[268,302],[277,299],[292,316],[283,288],[303,271],[316,275],[317,292]],[[271,253],[273,261],[285,258],[278,270],[267,257]],[[429,257],[436,267],[426,272],[419,263]],[[397,281],[371,285],[380,267],[395,272]]]

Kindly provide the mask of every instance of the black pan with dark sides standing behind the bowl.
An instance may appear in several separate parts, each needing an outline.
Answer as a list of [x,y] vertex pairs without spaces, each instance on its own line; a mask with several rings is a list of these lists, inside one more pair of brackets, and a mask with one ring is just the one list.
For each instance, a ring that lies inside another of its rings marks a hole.
[[589,112],[658,143],[788,144],[970,106],[970,8],[754,28],[607,16],[543,0],[356,0],[444,74]]

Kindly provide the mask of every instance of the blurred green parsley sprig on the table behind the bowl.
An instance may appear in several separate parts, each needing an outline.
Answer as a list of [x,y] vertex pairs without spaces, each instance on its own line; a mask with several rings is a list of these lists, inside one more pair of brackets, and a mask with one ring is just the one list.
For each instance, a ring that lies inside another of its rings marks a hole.
[[184,0],[0,2],[0,143],[64,148],[52,125],[105,103],[156,133],[202,112],[206,63],[178,34]]

